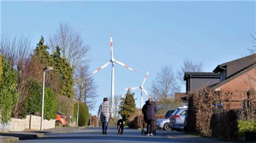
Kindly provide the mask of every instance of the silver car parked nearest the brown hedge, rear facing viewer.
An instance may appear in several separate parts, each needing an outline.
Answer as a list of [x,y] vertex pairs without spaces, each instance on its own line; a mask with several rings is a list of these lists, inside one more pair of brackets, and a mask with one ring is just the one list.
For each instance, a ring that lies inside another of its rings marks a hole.
[[186,114],[188,114],[187,107],[177,108],[176,111],[173,112],[173,116],[170,116],[170,128],[175,130],[183,130]]

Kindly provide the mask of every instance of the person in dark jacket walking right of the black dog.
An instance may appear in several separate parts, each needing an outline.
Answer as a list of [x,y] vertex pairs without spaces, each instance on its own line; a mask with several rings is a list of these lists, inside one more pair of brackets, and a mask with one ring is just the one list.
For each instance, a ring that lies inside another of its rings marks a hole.
[[147,133],[148,135],[153,135],[154,132],[154,122],[157,120],[157,106],[155,102],[152,101],[151,98],[145,102],[145,105],[142,107],[142,113],[144,114],[144,120],[147,123]]

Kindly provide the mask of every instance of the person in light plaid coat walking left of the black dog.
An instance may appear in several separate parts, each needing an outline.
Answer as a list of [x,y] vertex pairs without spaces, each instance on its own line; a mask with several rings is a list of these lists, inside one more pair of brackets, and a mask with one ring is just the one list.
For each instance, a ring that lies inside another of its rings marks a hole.
[[108,98],[103,99],[103,103],[98,108],[98,120],[101,119],[102,134],[107,134],[108,121],[111,118],[111,106],[108,104]]

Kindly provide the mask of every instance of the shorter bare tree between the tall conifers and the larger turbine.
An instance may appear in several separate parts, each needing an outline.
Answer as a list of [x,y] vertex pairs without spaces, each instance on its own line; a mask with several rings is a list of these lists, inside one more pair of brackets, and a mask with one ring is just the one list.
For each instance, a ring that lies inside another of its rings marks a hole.
[[76,71],[74,71],[74,79],[75,100],[86,102],[89,109],[94,108],[95,98],[98,95],[96,94],[94,79],[89,72],[89,65],[77,66]]

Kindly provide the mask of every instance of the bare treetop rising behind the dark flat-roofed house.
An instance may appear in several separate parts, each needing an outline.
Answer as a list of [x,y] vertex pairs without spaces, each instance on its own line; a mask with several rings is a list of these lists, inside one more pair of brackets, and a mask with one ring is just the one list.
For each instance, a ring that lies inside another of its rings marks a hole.
[[181,84],[186,84],[184,81],[184,73],[186,71],[189,72],[201,72],[202,71],[202,63],[201,62],[192,62],[189,59],[183,60],[183,66],[181,67],[180,71],[177,72],[177,79],[181,82]]

